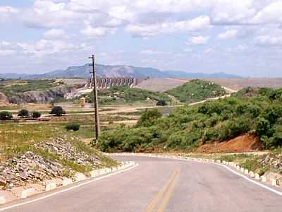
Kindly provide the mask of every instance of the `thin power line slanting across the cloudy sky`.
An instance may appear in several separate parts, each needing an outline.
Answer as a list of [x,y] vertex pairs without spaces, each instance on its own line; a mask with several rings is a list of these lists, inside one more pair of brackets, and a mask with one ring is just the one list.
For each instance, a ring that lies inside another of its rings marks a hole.
[[[78,4],[78,3],[76,3],[76,2],[75,2],[75,4],[77,4],[78,6],[86,7],[86,6],[84,6],[84,5],[82,5],[82,4]],[[152,30],[152,29],[150,29],[150,28],[147,28],[147,26],[145,26],[145,25],[142,24],[142,23],[136,23],[136,22],[127,20],[127,19],[125,19],[125,18],[117,17],[117,16],[114,16],[114,15],[112,15],[112,14],[110,14],[110,13],[106,13],[106,12],[104,12],[104,11],[100,11],[100,10],[97,9],[97,8],[87,8],[87,10],[94,11],[94,12],[97,12],[97,13],[102,13],[102,14],[104,14],[105,16],[109,16],[109,17],[111,17],[111,18],[114,18],[114,19],[117,19],[117,20],[121,20],[121,21],[123,21],[123,22],[125,22],[125,23],[129,23],[129,24],[131,24],[131,25],[138,25],[138,26],[140,26],[140,27],[142,27],[142,28],[144,28],[144,29],[147,29],[147,30],[151,31],[151,33],[157,33],[157,34],[167,35],[167,36],[173,37],[174,39],[177,39],[177,40],[182,40],[182,41],[185,41],[185,42],[187,41],[187,40],[186,40],[185,38],[183,38],[183,37],[179,37],[179,36],[176,36],[176,35],[173,35],[173,34],[170,34],[170,33],[163,33],[163,32],[158,32],[158,31],[156,31],[156,30]]]

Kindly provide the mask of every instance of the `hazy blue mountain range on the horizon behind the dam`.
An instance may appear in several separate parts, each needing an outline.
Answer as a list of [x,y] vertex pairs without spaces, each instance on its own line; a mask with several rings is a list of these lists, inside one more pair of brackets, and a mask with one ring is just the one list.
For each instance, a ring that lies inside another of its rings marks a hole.
[[[89,64],[83,66],[71,66],[66,70],[56,70],[43,74],[17,74],[0,73],[0,78],[90,78],[92,67]],[[97,76],[99,77],[125,77],[135,78],[241,78],[227,73],[188,73],[184,71],[160,71],[153,68],[135,66],[105,66],[97,64]]]

